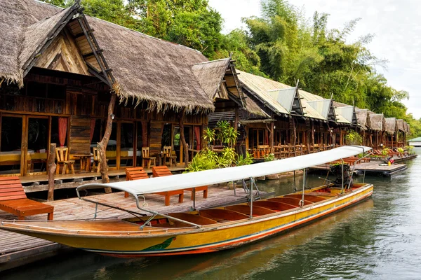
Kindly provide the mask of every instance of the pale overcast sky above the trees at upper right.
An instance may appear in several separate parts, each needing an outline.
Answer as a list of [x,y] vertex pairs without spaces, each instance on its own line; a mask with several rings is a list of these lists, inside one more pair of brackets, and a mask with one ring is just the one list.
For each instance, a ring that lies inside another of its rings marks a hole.
[[[241,18],[260,16],[259,0],[209,0],[224,18],[224,33],[244,27]],[[342,29],[345,22],[361,18],[349,42],[368,33],[375,38],[368,45],[377,58],[387,59],[385,74],[389,85],[406,90],[410,99],[403,103],[415,118],[421,118],[421,1],[417,0],[293,0],[304,8],[307,18],[314,11],[330,14],[328,28]],[[380,113],[380,112],[379,112]]]

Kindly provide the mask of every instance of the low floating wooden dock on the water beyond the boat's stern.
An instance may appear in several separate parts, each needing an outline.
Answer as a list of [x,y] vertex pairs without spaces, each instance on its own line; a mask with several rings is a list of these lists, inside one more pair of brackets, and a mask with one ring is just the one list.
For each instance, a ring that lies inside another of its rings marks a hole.
[[[385,177],[394,176],[395,174],[399,174],[407,169],[406,165],[403,164],[395,164],[395,165],[381,165],[383,162],[379,161],[371,161],[371,162],[362,162],[355,165],[354,172],[356,175],[362,175],[366,172],[366,175],[380,175]],[[328,171],[329,169],[328,164],[326,165],[317,165],[315,167],[310,167],[309,169],[312,170],[321,170],[321,171]],[[353,167],[351,167],[352,169]]]

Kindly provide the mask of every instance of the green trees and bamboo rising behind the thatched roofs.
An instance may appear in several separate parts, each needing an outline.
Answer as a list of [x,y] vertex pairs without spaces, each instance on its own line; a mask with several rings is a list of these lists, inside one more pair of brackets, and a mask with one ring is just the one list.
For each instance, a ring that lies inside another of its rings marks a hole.
[[[69,6],[72,0],[45,0]],[[263,0],[260,17],[244,18],[246,29],[222,34],[222,17],[207,0],[82,0],[85,13],[150,36],[187,45],[210,59],[232,53],[236,67],[295,85],[303,90],[354,104],[385,117],[403,118],[413,137],[421,136],[421,120],[406,113],[409,93],[387,84],[377,71],[386,67],[368,50],[367,34],[347,40],[359,19],[342,29],[328,29],[328,15],[306,18],[300,8],[283,0]]]

